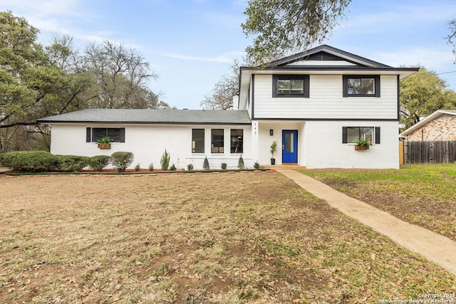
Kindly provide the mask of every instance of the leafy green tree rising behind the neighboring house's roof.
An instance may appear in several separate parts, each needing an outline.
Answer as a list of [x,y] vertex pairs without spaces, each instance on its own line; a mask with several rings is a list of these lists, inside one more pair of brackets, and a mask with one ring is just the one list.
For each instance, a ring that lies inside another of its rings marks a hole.
[[432,70],[420,68],[417,73],[400,80],[399,87],[403,130],[436,110],[456,107],[456,93]]

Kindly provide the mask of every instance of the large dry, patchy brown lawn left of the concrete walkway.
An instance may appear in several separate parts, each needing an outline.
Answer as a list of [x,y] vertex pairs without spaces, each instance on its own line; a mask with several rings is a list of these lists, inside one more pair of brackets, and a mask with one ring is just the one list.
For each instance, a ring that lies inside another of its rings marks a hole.
[[278,173],[0,187],[1,303],[378,303],[456,288]]

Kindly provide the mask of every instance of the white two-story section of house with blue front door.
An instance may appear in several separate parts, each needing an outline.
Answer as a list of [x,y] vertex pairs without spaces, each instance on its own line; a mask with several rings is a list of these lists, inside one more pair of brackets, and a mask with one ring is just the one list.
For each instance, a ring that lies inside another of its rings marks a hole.
[[[318,46],[240,70],[239,110],[252,120],[252,158],[307,168],[398,168],[399,80],[418,68]],[[355,150],[363,139],[368,150]]]

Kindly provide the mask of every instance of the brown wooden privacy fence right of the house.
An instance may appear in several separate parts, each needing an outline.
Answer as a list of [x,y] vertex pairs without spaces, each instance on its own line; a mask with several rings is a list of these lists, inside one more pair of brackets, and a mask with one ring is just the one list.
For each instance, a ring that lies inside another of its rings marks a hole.
[[400,164],[447,164],[456,161],[456,140],[399,142]]

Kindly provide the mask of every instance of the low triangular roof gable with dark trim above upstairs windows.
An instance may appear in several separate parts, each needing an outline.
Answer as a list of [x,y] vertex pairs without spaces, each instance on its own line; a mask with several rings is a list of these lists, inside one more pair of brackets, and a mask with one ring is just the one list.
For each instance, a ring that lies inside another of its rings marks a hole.
[[268,68],[298,66],[349,66],[360,68],[391,68],[389,65],[322,45],[293,56],[281,58],[266,65]]

